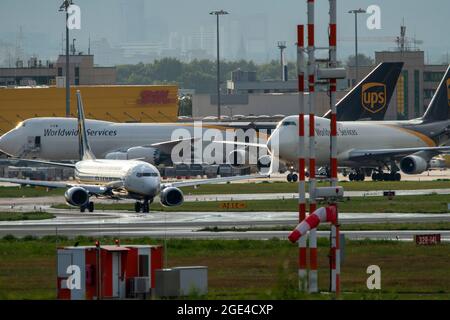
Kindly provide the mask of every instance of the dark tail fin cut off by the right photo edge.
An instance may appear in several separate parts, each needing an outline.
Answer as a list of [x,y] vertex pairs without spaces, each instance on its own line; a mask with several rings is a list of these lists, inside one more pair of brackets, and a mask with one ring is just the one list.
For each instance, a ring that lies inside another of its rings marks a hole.
[[422,119],[425,122],[445,121],[450,119],[450,65],[428,105]]

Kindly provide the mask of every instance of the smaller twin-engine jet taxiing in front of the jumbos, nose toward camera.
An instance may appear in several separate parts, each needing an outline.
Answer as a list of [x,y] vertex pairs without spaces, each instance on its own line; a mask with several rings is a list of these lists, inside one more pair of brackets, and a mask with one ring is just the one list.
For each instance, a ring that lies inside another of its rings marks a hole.
[[23,180],[0,178],[0,181],[20,185],[42,186],[47,188],[67,188],[66,201],[80,208],[82,212],[88,209],[94,211],[94,203],[90,197],[132,198],[136,199],[136,212],[149,212],[149,204],[159,195],[165,206],[177,206],[183,203],[183,192],[179,187],[207,183],[242,180],[263,175],[247,175],[226,178],[207,179],[199,181],[161,183],[158,169],[152,164],[140,160],[100,160],[96,159],[89,144],[84,120],[84,110],[81,94],[77,92],[79,151],[81,160],[75,164],[55,163],[39,160],[29,160],[37,163],[71,167],[75,169],[76,183],[52,181]]

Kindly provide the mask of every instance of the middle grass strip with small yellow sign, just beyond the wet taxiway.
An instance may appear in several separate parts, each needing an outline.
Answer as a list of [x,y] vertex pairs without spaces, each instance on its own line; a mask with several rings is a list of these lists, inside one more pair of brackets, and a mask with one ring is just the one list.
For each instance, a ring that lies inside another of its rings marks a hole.
[[[198,201],[185,202],[179,207],[164,207],[155,202],[151,205],[152,211],[297,211],[297,199],[285,200],[246,200],[239,201],[245,203],[245,208],[224,209],[223,202]],[[446,213],[447,203],[450,203],[450,195],[422,195],[422,196],[396,196],[393,200],[385,197],[354,197],[345,198],[339,202],[339,210],[342,212],[380,212],[380,213]],[[53,206],[58,209],[75,209],[65,204]],[[129,210],[134,211],[133,204],[96,204],[97,210]]]

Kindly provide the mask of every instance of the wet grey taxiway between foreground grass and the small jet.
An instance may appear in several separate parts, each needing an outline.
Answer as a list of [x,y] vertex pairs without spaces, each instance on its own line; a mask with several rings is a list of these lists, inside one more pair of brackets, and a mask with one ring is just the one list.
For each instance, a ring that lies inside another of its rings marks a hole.
[[[285,239],[288,231],[201,231],[206,227],[270,227],[297,224],[295,212],[96,212],[80,214],[70,210],[51,210],[56,218],[50,220],[0,222],[0,236],[65,235],[120,236],[154,238],[209,238],[209,239]],[[405,213],[341,213],[342,224],[386,222],[450,222],[450,214]],[[346,231],[349,239],[412,240],[414,234],[440,233],[450,240],[450,231]],[[328,237],[329,232],[319,232]]]

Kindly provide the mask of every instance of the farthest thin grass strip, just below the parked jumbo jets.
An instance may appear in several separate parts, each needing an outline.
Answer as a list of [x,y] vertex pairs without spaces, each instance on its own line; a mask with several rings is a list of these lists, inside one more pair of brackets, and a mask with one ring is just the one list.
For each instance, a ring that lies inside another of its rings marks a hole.
[[[318,186],[328,186],[328,182],[318,182]],[[415,190],[415,189],[442,189],[450,188],[450,181],[341,181],[347,191],[375,191],[375,190]],[[201,185],[198,188],[184,187],[185,194],[239,194],[239,193],[293,193],[297,192],[297,183],[287,182],[258,182],[258,183],[226,183]],[[63,189],[50,189],[38,187],[0,187],[0,198],[18,197],[44,197],[64,194]]]

